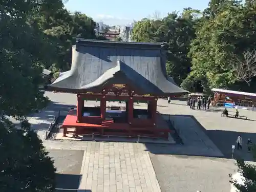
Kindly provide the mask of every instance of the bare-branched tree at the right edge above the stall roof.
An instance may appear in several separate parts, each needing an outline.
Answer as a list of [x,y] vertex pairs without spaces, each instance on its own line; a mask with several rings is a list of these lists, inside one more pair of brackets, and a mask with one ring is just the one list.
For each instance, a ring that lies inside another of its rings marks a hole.
[[256,51],[246,51],[242,58],[234,56],[232,69],[237,81],[245,81],[250,86],[250,81],[256,76]]

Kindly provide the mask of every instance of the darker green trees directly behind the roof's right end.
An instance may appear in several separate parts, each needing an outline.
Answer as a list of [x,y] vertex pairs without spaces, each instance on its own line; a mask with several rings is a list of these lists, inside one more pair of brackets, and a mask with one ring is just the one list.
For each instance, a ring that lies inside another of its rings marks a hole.
[[178,84],[190,72],[191,60],[187,56],[190,42],[195,38],[199,11],[184,9],[181,15],[169,13],[162,19],[142,19],[133,29],[133,40],[139,42],[166,42],[166,72]]

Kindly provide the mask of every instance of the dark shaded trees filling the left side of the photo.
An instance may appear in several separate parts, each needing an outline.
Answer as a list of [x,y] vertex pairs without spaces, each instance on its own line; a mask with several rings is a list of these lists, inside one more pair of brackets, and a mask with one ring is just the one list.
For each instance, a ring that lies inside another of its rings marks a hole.
[[42,69],[69,69],[73,37],[96,38],[95,22],[60,0],[3,0],[0,18],[0,191],[54,191],[56,169],[27,115],[48,104]]

